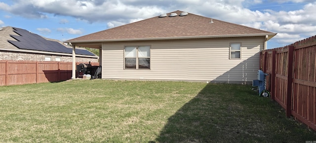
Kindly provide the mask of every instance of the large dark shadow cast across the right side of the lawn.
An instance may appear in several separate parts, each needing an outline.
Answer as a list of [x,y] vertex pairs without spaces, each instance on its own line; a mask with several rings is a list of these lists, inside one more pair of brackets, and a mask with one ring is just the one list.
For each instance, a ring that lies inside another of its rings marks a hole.
[[[169,117],[156,141],[149,143],[280,143],[313,138],[315,133],[280,116],[284,114],[280,109],[249,85],[207,84]],[[308,132],[305,137],[303,132]]]

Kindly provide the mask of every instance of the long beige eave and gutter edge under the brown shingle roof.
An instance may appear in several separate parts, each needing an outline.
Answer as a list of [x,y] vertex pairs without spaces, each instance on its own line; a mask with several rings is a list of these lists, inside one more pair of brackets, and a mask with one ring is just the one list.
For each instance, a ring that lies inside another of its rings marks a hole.
[[113,41],[139,41],[139,40],[168,40],[168,39],[196,39],[196,38],[221,38],[221,37],[249,37],[249,36],[268,36],[268,40],[276,36],[276,33],[262,34],[239,34],[239,35],[215,35],[215,36],[177,36],[177,37],[151,37],[151,38],[124,38],[124,39],[97,39],[97,40],[68,40],[65,43],[82,42],[113,42]]

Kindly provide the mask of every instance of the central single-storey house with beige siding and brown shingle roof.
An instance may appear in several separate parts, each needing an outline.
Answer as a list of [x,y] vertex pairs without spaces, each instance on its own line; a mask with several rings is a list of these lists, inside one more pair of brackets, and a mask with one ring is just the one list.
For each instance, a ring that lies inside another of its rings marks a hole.
[[175,11],[70,39],[102,48],[102,78],[249,84],[276,33]]

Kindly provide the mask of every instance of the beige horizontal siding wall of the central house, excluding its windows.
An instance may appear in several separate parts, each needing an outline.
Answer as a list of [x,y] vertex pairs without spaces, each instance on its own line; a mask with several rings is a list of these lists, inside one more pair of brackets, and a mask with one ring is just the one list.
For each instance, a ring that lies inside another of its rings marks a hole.
[[[265,37],[107,42],[102,78],[251,83],[259,70]],[[231,42],[241,42],[241,59],[229,59]],[[124,46],[151,46],[150,70],[124,70]]]

